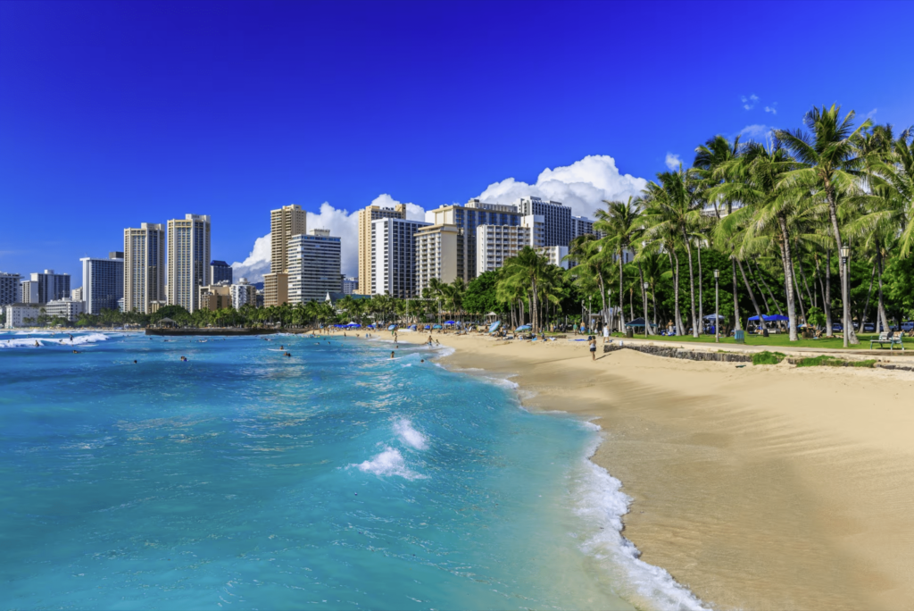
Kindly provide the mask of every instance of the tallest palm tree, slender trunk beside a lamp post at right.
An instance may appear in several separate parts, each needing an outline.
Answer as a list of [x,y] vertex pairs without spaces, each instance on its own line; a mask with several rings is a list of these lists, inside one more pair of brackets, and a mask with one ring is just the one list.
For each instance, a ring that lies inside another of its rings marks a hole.
[[[841,252],[844,241],[838,227],[838,199],[857,190],[858,177],[864,160],[855,146],[863,130],[872,125],[869,119],[854,128],[854,111],[839,119],[841,107],[832,105],[813,108],[803,117],[809,133],[802,130],[774,130],[774,135],[792,152],[797,169],[784,177],[784,184],[802,189],[807,193],[823,191],[828,203],[828,216],[832,223],[834,242]],[[841,260],[841,297],[844,307],[845,348],[848,344],[859,344],[850,321],[850,295],[847,265]]]

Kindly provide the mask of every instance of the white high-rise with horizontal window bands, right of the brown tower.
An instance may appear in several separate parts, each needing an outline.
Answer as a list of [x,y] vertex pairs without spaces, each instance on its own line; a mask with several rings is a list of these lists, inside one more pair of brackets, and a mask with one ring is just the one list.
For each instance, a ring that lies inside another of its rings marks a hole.
[[303,304],[324,301],[327,293],[339,293],[340,239],[329,230],[314,229],[293,235],[289,241],[289,301]]

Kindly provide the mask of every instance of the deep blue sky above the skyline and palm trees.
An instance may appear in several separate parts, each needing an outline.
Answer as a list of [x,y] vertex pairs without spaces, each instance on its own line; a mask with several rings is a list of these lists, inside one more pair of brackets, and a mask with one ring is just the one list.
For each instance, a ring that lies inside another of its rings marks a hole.
[[431,209],[546,168],[615,172],[575,166],[588,155],[651,179],[814,104],[908,126],[912,17],[901,2],[0,3],[0,270],[79,275],[124,227],[188,212],[212,216],[214,258],[241,262],[271,208],[327,202],[315,220],[343,232],[339,210],[382,194]]

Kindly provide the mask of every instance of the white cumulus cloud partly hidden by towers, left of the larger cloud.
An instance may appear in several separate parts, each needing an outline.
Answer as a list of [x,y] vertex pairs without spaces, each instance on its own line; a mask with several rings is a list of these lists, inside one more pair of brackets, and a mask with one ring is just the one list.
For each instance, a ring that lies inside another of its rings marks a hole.
[[[372,206],[393,208],[400,202],[382,193],[371,201]],[[424,220],[425,209],[413,203],[407,203],[406,215],[408,219]],[[329,202],[321,204],[320,211],[308,212],[308,230],[330,230],[330,235],[340,238],[340,268],[341,273],[354,276],[358,273],[358,210],[349,212],[346,209],[334,208]],[[250,255],[241,263],[232,263],[232,270],[236,278],[245,277],[248,282],[263,281],[263,274],[270,273],[271,241],[270,234],[254,241],[254,248]]]

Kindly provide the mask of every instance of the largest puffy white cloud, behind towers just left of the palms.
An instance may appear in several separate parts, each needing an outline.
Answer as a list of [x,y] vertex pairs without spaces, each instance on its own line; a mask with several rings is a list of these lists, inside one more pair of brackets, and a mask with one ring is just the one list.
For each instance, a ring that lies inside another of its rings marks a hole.
[[646,186],[643,178],[620,174],[611,156],[588,155],[570,166],[547,167],[533,185],[505,178],[489,185],[478,197],[489,203],[510,204],[517,198],[536,196],[560,201],[570,206],[573,214],[592,219],[604,199],[638,195]]

